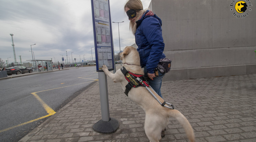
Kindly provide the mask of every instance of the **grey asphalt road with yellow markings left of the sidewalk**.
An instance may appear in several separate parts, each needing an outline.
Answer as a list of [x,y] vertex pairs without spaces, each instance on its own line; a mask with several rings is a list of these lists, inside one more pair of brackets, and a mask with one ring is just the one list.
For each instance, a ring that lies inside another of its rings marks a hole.
[[0,80],[0,142],[19,141],[97,79],[93,66]]

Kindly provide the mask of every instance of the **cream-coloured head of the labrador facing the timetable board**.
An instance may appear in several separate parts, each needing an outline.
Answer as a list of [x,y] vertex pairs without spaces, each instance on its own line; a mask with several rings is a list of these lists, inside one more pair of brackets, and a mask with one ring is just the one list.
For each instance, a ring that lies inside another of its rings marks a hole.
[[124,51],[120,53],[122,63],[134,64],[140,66],[140,56],[136,48],[126,46]]

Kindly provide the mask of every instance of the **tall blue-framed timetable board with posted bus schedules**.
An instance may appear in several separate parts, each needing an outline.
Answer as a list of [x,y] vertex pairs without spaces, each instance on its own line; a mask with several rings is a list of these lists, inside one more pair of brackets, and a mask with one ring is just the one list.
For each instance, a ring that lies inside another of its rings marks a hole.
[[105,64],[114,70],[114,56],[110,21],[109,0],[91,0],[93,14],[94,45],[97,71]]

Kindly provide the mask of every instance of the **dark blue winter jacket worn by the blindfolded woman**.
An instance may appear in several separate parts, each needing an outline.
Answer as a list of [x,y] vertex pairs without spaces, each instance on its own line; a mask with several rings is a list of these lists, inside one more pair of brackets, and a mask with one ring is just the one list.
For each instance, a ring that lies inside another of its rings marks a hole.
[[140,66],[146,66],[148,73],[154,73],[159,60],[166,56],[163,54],[162,20],[156,14],[145,16],[148,12],[149,10],[136,21],[135,40],[140,55]]

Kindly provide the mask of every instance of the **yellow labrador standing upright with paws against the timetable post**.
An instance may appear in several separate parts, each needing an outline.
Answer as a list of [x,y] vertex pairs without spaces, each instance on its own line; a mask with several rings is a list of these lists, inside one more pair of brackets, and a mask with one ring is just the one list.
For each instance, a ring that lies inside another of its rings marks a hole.
[[[134,74],[144,74],[143,69],[140,67],[140,57],[136,48],[127,46],[124,49],[124,52],[120,54],[120,57],[122,59],[123,66],[127,71]],[[125,79],[125,76],[120,69],[113,74],[108,71],[107,66],[103,65],[102,70],[114,82],[120,82],[122,89],[125,91],[125,86],[128,81]],[[157,96],[161,103],[164,102],[164,100],[157,94],[154,95]],[[153,98],[145,87],[132,87],[128,93],[128,97],[145,111],[146,117],[144,129],[151,142],[159,142],[159,140],[161,140],[161,131],[167,126],[169,117],[177,119],[185,129],[189,140],[194,142],[194,132],[189,121],[180,113],[180,111],[161,106],[161,104]]]

